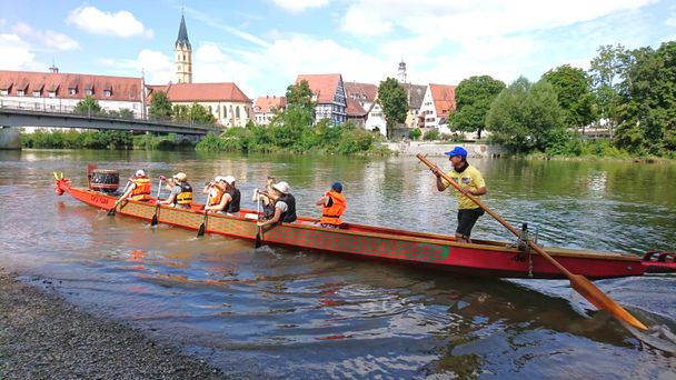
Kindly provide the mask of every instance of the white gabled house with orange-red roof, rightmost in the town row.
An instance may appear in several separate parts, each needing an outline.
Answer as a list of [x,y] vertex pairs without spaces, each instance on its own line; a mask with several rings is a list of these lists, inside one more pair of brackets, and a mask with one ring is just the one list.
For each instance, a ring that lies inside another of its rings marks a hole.
[[448,116],[456,109],[455,86],[430,83],[425,91],[422,104],[418,113],[418,126],[422,133],[438,129],[441,133],[450,133]]

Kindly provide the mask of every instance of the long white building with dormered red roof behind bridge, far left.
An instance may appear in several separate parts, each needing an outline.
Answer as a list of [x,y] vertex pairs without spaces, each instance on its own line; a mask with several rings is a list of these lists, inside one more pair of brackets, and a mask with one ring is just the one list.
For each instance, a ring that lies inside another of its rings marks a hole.
[[72,112],[87,97],[105,111],[129,110],[143,117],[143,79],[59,72],[0,70],[0,107]]

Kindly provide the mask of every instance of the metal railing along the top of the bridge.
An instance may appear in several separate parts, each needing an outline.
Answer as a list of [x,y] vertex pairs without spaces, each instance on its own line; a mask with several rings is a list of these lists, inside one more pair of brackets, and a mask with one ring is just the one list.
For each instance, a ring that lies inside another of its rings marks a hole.
[[[39,98],[38,98],[39,99]],[[101,111],[89,111],[89,112],[78,112],[76,107],[73,106],[64,106],[64,104],[54,104],[48,102],[39,102],[39,101],[16,101],[16,100],[7,100],[0,98],[0,109],[11,109],[18,111],[27,111],[27,112],[40,112],[50,116],[79,116],[79,117],[88,117],[96,119],[110,119],[118,121],[136,121],[136,122],[148,122],[153,124],[162,124],[162,126],[173,126],[173,127],[190,127],[195,129],[218,129],[218,126],[209,126],[201,124],[197,122],[192,122],[190,120],[189,123],[180,123],[173,120],[163,120],[163,119],[153,119],[148,118],[147,116],[141,114],[140,112],[135,112],[135,110],[130,110],[132,112],[131,118],[126,118],[120,114],[109,113],[111,111],[119,110],[101,110]]]

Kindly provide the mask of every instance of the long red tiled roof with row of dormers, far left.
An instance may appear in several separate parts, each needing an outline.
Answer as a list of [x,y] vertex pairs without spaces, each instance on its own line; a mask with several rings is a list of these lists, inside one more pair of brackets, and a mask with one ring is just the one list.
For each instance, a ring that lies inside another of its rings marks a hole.
[[[1,87],[8,87],[10,97],[16,97],[18,90],[26,90],[28,94],[33,89],[47,87],[48,91],[57,91],[58,98],[84,99],[86,86],[93,87],[93,98],[97,100],[140,101],[141,78],[92,76],[66,72],[31,72],[31,71],[4,71],[0,70]],[[103,96],[103,88],[112,90],[110,97]],[[78,93],[70,94],[68,88],[77,87]],[[46,93],[43,97],[48,96]]]

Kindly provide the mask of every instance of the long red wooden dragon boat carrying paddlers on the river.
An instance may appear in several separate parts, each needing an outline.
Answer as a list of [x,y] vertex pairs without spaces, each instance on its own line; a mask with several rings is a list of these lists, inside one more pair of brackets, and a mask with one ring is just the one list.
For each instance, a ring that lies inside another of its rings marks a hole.
[[[56,177],[56,174],[54,174]],[[57,178],[54,190],[99,209],[110,210],[113,196],[73,188],[68,179]],[[158,222],[198,230],[205,220],[203,204],[191,209],[156,207],[153,201],[123,201],[118,214],[146,221],[156,214]],[[239,216],[209,214],[206,231],[228,237],[256,240],[258,214],[241,210]],[[344,223],[340,229],[315,226],[317,219],[299,218],[296,223],[279,223],[261,233],[264,243],[287,246],[359,259],[378,259],[430,267],[468,276],[499,278],[561,279],[559,270],[537,252],[516,248],[515,243],[474,240],[461,243],[455,237],[390,228]],[[254,243],[251,244],[254,247]],[[570,272],[590,279],[643,276],[646,272],[676,272],[672,252],[646,252],[643,258],[627,253],[547,248],[547,252]]]

